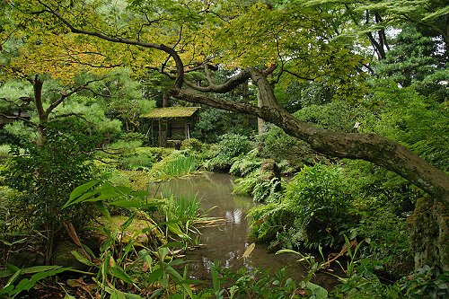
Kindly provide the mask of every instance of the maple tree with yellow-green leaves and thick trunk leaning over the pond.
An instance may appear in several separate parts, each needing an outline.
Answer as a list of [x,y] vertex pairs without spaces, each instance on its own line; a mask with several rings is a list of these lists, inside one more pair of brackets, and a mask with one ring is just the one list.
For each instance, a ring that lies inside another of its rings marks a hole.
[[[428,10],[420,8],[424,3],[429,4]],[[129,66],[142,76],[157,71],[173,80],[174,98],[255,115],[321,154],[382,166],[446,206],[449,203],[449,176],[407,147],[374,134],[316,128],[282,109],[275,94],[278,85],[303,80],[332,84],[336,97],[357,101],[364,96],[364,77],[370,69],[364,54],[371,50],[366,45],[371,44],[383,58],[388,50],[385,29],[408,20],[441,18],[447,9],[437,1],[285,1],[276,7],[182,0],[17,0],[10,4],[21,26],[26,23],[30,34],[40,31],[39,40],[54,37],[55,48],[65,48],[65,39],[74,40],[69,48],[94,47],[99,65]],[[47,56],[37,54],[38,61],[39,57]],[[216,82],[216,67],[233,69],[234,75]],[[57,69],[46,71],[58,75]],[[39,73],[39,68],[32,72]],[[190,81],[194,72],[202,72],[206,83]],[[257,86],[259,106],[214,96],[248,81]]]

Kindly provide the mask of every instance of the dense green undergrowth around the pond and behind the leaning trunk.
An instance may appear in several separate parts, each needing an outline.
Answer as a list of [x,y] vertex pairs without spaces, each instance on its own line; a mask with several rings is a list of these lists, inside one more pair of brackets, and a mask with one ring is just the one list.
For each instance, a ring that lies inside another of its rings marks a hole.
[[[385,88],[379,85],[373,96],[382,98]],[[389,103],[392,109],[374,113],[364,105],[333,101],[310,105],[296,117],[350,131],[352,120],[339,116],[346,111],[360,120],[359,131],[391,136],[445,170],[441,107],[423,106],[424,100],[406,89],[392,91],[401,101],[409,99],[403,104],[408,110]],[[425,110],[422,118],[416,117],[419,110]],[[191,138],[174,150],[147,147],[145,136],[136,133],[103,140],[77,120],[66,121],[70,126],[48,127],[50,136],[42,145],[10,135],[0,147],[0,295],[21,297],[46,284],[66,298],[448,295],[448,276],[441,268],[414,267],[410,224],[426,197],[392,172],[313,153],[270,125],[257,137],[225,134],[212,145]],[[82,127],[78,135],[66,129],[76,126]],[[212,286],[191,281],[189,263],[179,255],[198,243],[198,225],[215,220],[199,214],[198,198],[155,198],[146,189],[150,181],[196,171],[238,176],[233,192],[260,203],[248,215],[250,237],[267,242],[272,251],[296,252],[309,276],[295,281],[282,269],[275,275],[233,273],[216,264],[210,269]],[[72,245],[61,254],[63,242]],[[68,261],[59,259],[67,255]],[[339,265],[342,274],[336,277],[329,264]],[[339,285],[325,290],[313,284],[317,271]]]

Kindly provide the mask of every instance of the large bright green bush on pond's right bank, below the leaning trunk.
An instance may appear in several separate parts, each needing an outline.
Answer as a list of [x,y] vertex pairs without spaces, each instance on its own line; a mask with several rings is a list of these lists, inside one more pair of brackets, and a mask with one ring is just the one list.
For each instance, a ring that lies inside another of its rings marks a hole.
[[278,203],[251,209],[251,234],[259,239],[276,235],[272,245],[286,248],[335,246],[339,233],[352,224],[350,199],[337,166],[304,167]]

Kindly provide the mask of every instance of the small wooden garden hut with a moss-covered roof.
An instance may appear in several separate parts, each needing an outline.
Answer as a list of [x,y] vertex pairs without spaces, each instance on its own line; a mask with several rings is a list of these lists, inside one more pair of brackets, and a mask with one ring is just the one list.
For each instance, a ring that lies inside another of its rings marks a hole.
[[150,120],[146,136],[151,145],[179,147],[182,140],[190,138],[190,128],[198,120],[199,108],[155,108],[150,113],[141,115],[141,119]]

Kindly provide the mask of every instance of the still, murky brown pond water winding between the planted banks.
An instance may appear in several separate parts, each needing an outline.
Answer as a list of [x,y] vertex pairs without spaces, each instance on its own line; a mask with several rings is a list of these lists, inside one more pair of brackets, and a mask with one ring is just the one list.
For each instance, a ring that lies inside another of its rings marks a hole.
[[[249,233],[246,213],[255,204],[250,197],[233,195],[235,178],[225,173],[203,172],[200,175],[163,181],[151,186],[153,192],[170,193],[176,196],[191,198],[197,195],[201,207],[208,216],[225,219],[224,224],[200,229],[200,246],[189,251],[185,259],[189,260],[190,276],[200,280],[210,279],[208,269],[211,263],[219,261],[226,268],[265,268],[276,271],[287,268],[289,277],[301,279],[307,274],[304,265],[297,262],[296,255],[275,255],[267,245],[256,244],[247,258],[243,252],[251,244],[247,238]],[[315,283],[330,287],[333,285],[329,277],[318,276]],[[333,280],[333,279],[332,279]]]

